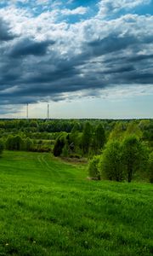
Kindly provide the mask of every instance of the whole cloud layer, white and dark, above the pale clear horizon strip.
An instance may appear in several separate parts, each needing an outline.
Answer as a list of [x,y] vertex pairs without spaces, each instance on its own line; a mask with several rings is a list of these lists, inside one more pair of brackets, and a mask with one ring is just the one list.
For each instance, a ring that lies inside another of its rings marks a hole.
[[[149,0],[3,1],[0,102],[22,104],[99,96],[153,83],[153,16],[133,13]],[[122,4],[121,4],[122,3]],[[35,7],[33,7],[35,6]]]

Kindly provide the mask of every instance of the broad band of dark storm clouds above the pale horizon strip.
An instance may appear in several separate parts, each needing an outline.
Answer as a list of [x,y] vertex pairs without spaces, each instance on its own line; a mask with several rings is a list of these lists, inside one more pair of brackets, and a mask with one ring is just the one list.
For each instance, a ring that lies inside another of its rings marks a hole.
[[[153,55],[147,51],[151,44],[147,34],[139,38],[130,32],[110,32],[86,41],[77,54],[75,49],[61,54],[65,45],[59,42],[17,38],[1,49],[0,101],[20,104],[46,96],[58,101],[63,93],[78,90],[97,96],[96,91],[113,85],[152,84]],[[139,54],[139,49],[148,53]]]

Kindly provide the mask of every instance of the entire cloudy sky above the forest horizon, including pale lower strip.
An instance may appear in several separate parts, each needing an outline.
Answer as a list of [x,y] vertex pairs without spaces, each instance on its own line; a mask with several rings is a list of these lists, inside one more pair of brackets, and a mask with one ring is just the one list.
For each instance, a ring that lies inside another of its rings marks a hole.
[[0,118],[153,118],[153,0],[0,0]]

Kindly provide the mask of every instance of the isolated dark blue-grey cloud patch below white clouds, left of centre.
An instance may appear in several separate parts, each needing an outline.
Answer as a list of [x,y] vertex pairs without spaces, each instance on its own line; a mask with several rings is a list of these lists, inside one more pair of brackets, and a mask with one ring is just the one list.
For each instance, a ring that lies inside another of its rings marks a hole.
[[14,45],[9,55],[14,58],[20,58],[24,55],[45,55],[48,46],[54,44],[54,41],[37,42],[29,38],[24,38]]

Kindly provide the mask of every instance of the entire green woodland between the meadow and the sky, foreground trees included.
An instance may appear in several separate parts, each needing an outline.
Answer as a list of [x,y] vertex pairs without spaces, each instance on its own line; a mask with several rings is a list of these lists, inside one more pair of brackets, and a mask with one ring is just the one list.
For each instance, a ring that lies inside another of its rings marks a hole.
[[153,182],[153,119],[1,119],[3,149],[84,158],[91,179]]

